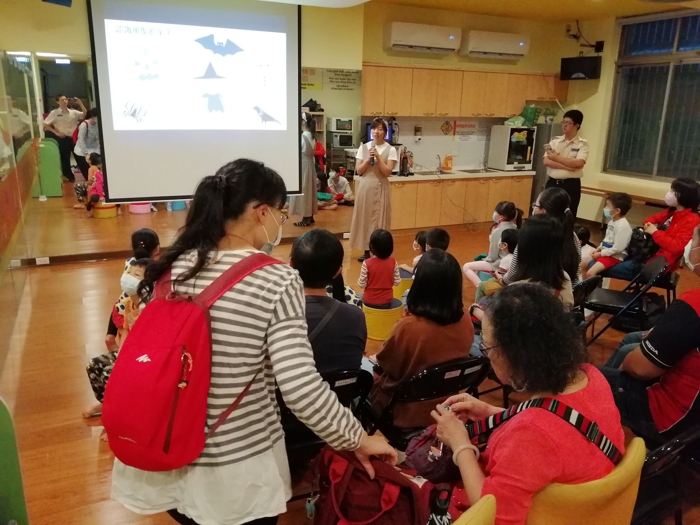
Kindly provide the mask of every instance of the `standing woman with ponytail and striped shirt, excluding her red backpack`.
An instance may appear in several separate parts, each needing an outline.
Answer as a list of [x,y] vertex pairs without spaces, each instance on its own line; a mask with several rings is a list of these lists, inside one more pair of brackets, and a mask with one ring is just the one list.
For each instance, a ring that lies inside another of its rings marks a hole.
[[[177,295],[196,296],[236,262],[269,253],[286,221],[284,182],[262,162],[239,159],[206,176],[185,225],[146,269],[139,295],[171,272]],[[370,454],[395,451],[367,436],[316,372],[299,274],[284,264],[256,269],[209,309],[211,382],[207,425],[244,391],[244,402],[204,443],[193,463],[146,472],[115,460],[112,498],[140,514],[167,511],[181,524],[272,525],[291,496],[275,384],[286,405],[331,447],[355,450],[373,475]]]

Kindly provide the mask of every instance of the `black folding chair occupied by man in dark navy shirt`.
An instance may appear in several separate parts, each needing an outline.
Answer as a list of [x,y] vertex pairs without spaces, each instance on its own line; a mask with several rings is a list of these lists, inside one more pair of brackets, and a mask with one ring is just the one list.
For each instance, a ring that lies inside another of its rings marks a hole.
[[[374,379],[367,370],[343,370],[341,372],[331,372],[321,376],[323,381],[330,385],[330,389],[335,392],[341,405],[351,407],[353,400],[359,398],[360,402],[354,414],[358,416],[358,410],[362,409],[370,393]],[[314,453],[323,448],[325,442],[314,434],[304,423],[299,421],[292,411],[285,405],[279,388],[275,388],[277,405],[279,406],[279,416],[284,429],[284,439],[288,451],[300,451],[300,449],[311,449]],[[314,454],[315,455],[315,454]]]

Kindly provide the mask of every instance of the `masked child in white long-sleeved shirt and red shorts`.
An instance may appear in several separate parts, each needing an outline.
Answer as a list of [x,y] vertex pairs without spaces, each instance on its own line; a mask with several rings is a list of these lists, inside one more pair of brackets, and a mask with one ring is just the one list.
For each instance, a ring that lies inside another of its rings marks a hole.
[[626,193],[610,193],[605,199],[605,217],[612,218],[605,231],[605,239],[591,253],[591,262],[584,278],[592,277],[617,265],[627,256],[627,246],[632,237],[632,227],[624,216],[632,207],[632,197]]

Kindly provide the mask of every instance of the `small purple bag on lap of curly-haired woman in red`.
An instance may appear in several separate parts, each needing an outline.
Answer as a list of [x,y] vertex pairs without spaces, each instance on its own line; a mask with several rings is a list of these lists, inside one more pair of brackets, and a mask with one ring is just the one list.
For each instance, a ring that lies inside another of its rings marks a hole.
[[[436,428],[429,426],[409,442],[406,465],[433,484],[454,483],[461,479],[459,468],[452,461],[452,450],[437,439]],[[437,453],[441,445],[442,455]]]

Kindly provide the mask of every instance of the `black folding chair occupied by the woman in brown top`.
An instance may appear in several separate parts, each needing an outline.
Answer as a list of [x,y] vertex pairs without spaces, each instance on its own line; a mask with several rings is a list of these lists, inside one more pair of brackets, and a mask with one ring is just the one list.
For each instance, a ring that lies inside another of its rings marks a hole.
[[393,409],[397,402],[420,402],[431,399],[447,398],[449,395],[468,391],[477,393],[477,386],[484,380],[490,370],[489,360],[485,357],[465,357],[454,359],[441,365],[423,370],[399,386],[391,396],[381,414],[374,414],[369,403],[364,416],[369,421],[367,433],[379,430],[392,447],[405,450],[409,441],[424,428],[398,428],[394,426]]

